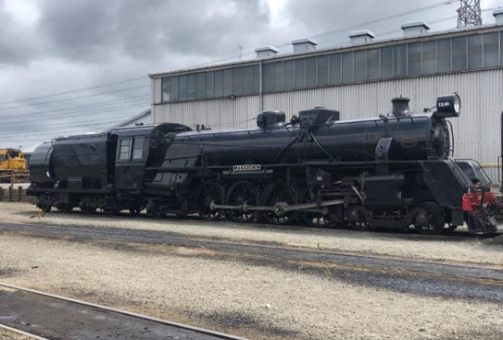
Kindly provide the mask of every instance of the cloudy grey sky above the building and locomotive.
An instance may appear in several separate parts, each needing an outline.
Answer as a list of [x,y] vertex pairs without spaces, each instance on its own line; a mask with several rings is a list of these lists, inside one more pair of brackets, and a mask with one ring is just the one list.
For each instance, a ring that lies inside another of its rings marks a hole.
[[[96,131],[147,109],[147,74],[253,55],[313,37],[320,47],[425,20],[454,28],[459,1],[0,0],[0,148]],[[430,6],[431,5],[431,6]],[[502,6],[481,0],[482,9]],[[429,8],[427,8],[429,7]],[[483,22],[494,23],[492,11]],[[379,20],[382,19],[382,20]]]

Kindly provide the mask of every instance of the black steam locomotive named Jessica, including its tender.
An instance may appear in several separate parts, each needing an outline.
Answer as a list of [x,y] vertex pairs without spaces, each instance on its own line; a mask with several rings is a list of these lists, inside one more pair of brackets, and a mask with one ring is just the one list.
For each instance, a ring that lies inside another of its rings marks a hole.
[[205,130],[175,123],[56,138],[30,159],[37,206],[272,224],[350,224],[427,234],[467,223],[497,230],[496,198],[475,162],[449,159],[458,95],[412,114],[340,120],[323,107],[257,116],[257,128]]

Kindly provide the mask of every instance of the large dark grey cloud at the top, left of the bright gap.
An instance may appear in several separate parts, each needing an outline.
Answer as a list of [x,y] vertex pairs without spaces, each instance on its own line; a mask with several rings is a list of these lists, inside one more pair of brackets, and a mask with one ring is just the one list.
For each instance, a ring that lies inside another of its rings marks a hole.
[[81,62],[101,61],[113,53],[149,60],[166,53],[222,55],[230,45],[237,50],[242,36],[260,34],[269,22],[268,9],[259,0],[70,4],[45,0],[39,29],[52,53]]

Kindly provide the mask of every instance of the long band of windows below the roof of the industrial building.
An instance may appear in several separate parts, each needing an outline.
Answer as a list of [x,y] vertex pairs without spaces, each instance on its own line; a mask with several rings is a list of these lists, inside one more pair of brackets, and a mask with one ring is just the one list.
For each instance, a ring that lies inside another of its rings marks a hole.
[[[263,64],[263,92],[503,66],[503,34],[484,33]],[[162,79],[162,101],[259,93],[259,65]]]

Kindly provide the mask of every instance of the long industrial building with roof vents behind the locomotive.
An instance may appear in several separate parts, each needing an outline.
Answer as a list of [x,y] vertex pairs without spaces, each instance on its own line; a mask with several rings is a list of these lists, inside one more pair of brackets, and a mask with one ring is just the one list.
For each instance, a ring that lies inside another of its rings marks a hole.
[[[457,92],[461,116],[451,119],[454,157],[496,163],[501,154],[503,110],[503,10],[495,24],[431,32],[423,21],[402,25],[403,36],[383,40],[367,30],[350,43],[318,49],[292,41],[293,51],[256,50],[256,59],[150,74],[155,123],[204,124],[213,129],[255,126],[261,111],[324,106],[341,119],[375,117],[394,97],[409,97],[422,112],[441,94]],[[492,179],[496,168],[488,165]]]

